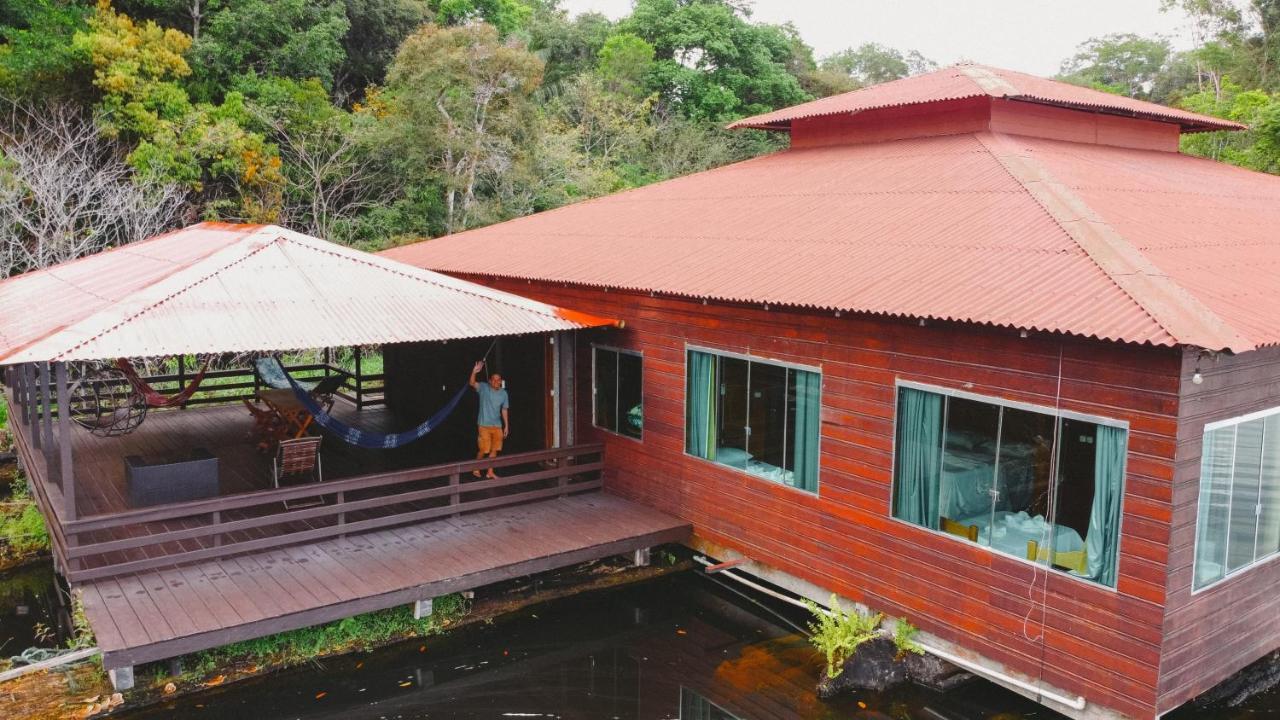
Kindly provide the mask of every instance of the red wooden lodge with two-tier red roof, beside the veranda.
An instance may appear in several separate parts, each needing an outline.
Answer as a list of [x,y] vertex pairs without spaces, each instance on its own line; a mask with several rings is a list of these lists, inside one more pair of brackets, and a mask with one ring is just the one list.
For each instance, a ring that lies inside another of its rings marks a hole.
[[384,255],[622,320],[576,438],[695,547],[1073,717],[1280,647],[1280,178],[1239,126],[980,65],[791,149]]

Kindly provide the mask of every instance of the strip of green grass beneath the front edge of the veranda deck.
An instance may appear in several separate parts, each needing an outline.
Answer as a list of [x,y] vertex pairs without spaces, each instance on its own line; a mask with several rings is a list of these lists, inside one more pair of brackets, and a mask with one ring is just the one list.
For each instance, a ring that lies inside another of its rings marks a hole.
[[372,650],[390,642],[439,634],[468,611],[461,594],[435,598],[434,612],[413,619],[411,606],[398,606],[188,656],[191,674],[202,678],[239,662],[289,666],[326,655]]

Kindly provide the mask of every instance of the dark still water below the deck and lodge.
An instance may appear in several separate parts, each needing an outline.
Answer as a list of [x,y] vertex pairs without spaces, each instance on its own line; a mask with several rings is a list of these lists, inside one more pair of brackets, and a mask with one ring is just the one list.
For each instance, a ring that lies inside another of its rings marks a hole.
[[[51,574],[0,578],[5,655],[56,626]],[[41,585],[44,582],[44,585]],[[5,591],[9,587],[10,591]],[[15,589],[20,588],[20,589]],[[18,607],[24,610],[19,614]],[[946,694],[902,688],[822,702],[820,661],[765,606],[684,574],[539,606],[424,642],[351,655],[120,715],[133,720],[602,719],[1053,720],[1060,715],[980,680]],[[1280,720],[1268,693],[1178,720]]]

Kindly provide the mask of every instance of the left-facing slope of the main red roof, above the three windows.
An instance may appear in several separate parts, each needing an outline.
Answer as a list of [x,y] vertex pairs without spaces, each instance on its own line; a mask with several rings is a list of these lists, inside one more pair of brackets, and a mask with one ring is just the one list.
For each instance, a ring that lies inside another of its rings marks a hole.
[[443,272],[1180,342],[973,135],[788,150],[385,255]]

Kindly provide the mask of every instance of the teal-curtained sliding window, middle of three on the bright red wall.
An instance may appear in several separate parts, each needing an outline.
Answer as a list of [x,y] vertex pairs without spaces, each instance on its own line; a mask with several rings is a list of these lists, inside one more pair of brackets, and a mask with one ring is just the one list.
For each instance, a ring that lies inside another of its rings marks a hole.
[[690,350],[685,452],[818,492],[822,375]]

